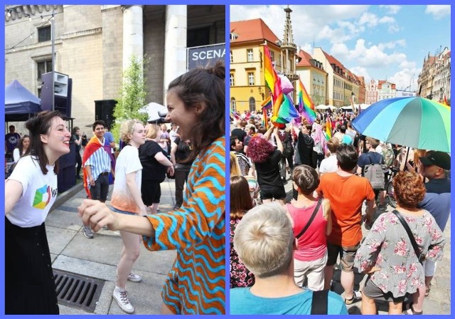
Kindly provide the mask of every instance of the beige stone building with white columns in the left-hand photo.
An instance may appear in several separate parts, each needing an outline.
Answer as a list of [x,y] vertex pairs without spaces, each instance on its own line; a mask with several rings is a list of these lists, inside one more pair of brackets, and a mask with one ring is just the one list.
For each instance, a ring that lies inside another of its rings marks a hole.
[[165,105],[168,83],[187,70],[187,48],[225,43],[225,6],[5,6],[5,83],[39,96],[52,42],[54,71],[73,80],[74,125],[91,135],[95,101],[111,108],[132,55],[149,59],[146,103]]

